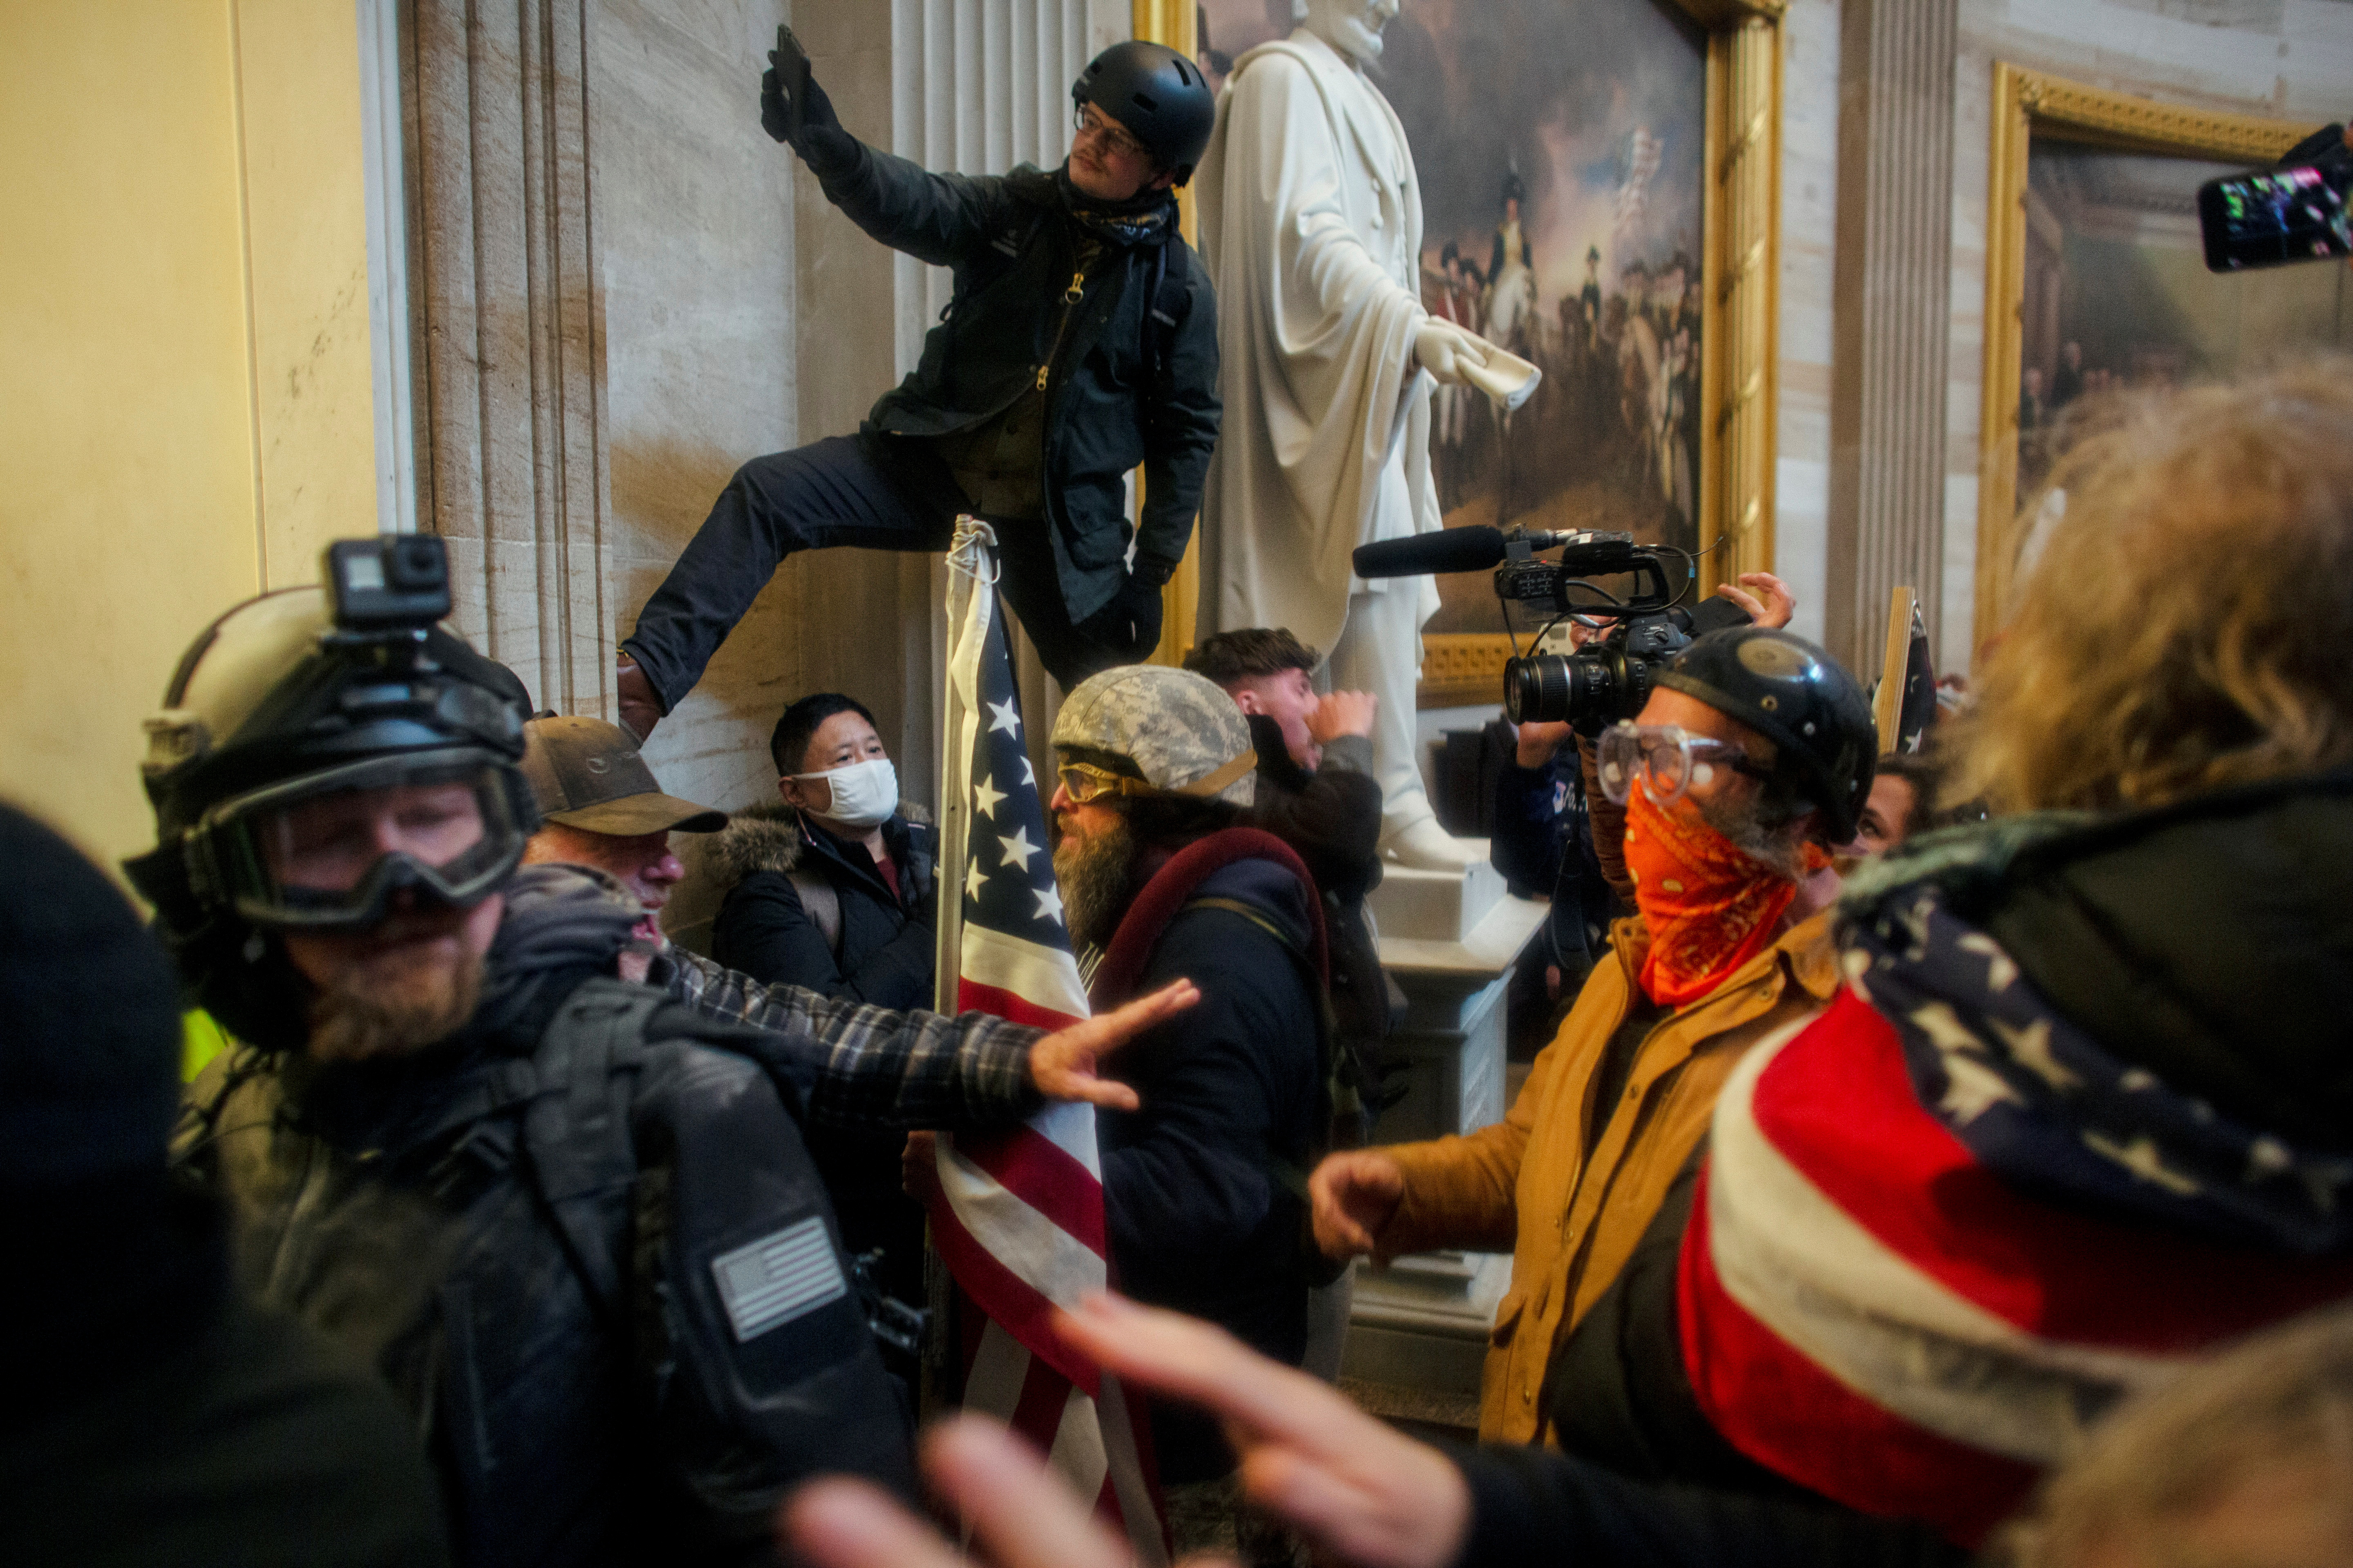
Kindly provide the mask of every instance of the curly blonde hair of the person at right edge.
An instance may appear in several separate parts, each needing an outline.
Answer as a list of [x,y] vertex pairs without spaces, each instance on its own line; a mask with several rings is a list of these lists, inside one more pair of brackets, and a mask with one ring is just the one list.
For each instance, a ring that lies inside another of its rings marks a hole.
[[2353,762],[2353,362],[2089,411],[1944,802],[2160,806]]

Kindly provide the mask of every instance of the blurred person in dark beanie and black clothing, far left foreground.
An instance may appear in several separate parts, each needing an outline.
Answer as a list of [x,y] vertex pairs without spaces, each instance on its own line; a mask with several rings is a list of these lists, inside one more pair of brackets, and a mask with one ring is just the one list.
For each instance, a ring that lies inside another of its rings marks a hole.
[[165,1164],[179,983],[129,900],[0,806],[0,1561],[449,1561],[407,1418],[348,1352],[228,1284]]

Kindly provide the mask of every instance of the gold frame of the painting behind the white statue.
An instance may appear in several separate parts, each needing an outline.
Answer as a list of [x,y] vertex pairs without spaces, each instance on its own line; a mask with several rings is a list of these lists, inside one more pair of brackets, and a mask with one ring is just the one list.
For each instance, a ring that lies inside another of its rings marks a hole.
[[[1699,545],[1701,592],[1772,569],[1774,383],[1781,287],[1781,14],[1788,0],[1673,0],[1708,28],[1708,190],[1701,216]],[[1193,54],[1193,0],[1134,0],[1136,38]],[[1184,197],[1186,233],[1191,197]],[[1718,541],[1732,536],[1725,550]],[[1167,588],[1160,663],[1193,644],[1200,557]],[[1499,701],[1511,637],[1421,639],[1421,708]]]

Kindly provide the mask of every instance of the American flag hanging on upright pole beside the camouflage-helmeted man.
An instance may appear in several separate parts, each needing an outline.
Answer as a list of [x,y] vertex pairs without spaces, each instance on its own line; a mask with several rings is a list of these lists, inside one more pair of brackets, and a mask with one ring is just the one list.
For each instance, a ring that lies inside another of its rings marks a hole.
[[[941,1011],[1056,1030],[1087,1016],[1087,987],[1021,733],[993,545],[988,524],[967,517],[948,552],[955,642],[939,882],[960,896],[941,900]],[[1167,1537],[1144,1460],[1144,1406],[1061,1345],[1049,1321],[1108,1281],[1094,1107],[1049,1105],[1009,1133],[941,1133],[936,1147],[932,1244],[984,1319],[967,1335],[965,1408],[1038,1443],[1127,1533],[1136,1561],[1160,1568]]]

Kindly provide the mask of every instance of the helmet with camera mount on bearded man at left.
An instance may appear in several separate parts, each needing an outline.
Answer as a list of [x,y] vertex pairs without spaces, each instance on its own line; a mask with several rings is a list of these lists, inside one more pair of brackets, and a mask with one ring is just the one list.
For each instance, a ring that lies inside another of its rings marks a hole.
[[[398,548],[424,545],[440,567],[440,541]],[[494,893],[539,825],[527,715],[522,682],[456,635],[339,614],[322,588],[207,625],[146,722],[155,849],[122,863],[195,1001],[247,1044],[294,1046],[308,987],[278,933],[372,926],[402,889],[459,907]],[[456,802],[468,827],[433,851],[355,849],[341,884],[289,875],[292,823],[386,788]]]

